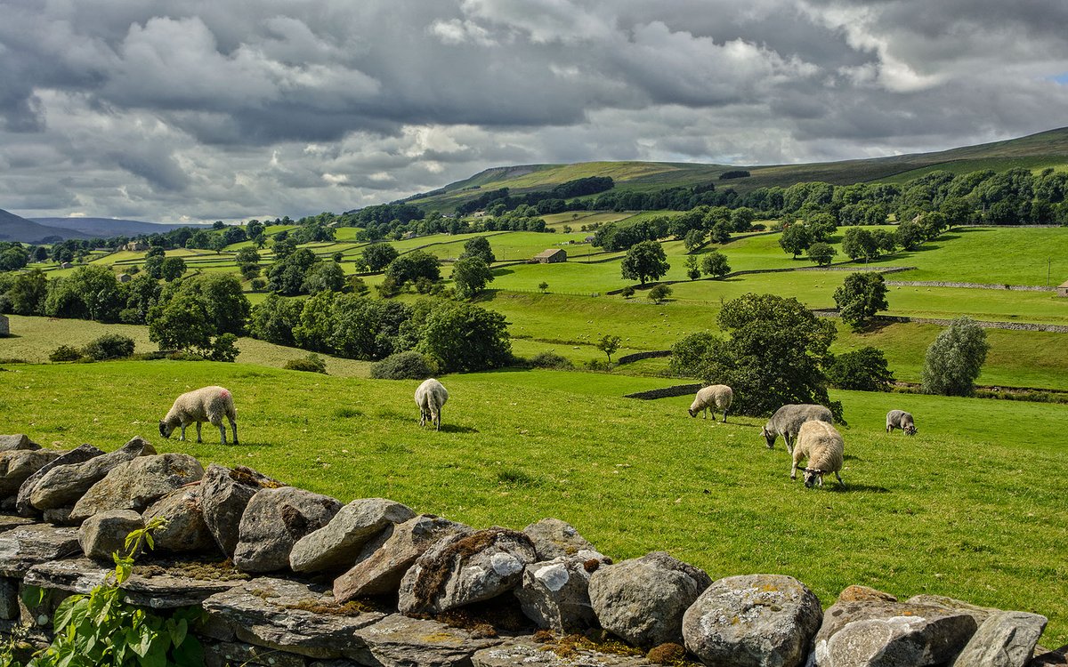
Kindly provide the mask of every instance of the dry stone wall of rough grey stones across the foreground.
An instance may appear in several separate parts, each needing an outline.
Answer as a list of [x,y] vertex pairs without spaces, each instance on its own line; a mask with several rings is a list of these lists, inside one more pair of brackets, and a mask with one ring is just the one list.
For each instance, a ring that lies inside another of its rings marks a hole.
[[[42,451],[0,436],[0,635],[37,646],[60,601],[104,583],[122,538],[163,515],[167,547],[139,556],[122,593],[203,609],[192,632],[211,667],[1066,664],[1037,647],[1037,614],[862,586],[823,612],[790,576],[713,582],[663,552],[615,562],[559,519],[477,529],[386,498],[343,505],[140,438]],[[47,593],[33,608],[28,586]]]

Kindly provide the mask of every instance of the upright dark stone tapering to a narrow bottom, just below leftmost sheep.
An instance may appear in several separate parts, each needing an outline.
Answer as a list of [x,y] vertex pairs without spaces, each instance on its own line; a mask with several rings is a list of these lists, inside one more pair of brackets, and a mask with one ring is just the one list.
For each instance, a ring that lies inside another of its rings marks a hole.
[[211,463],[207,466],[201,481],[201,509],[207,529],[211,531],[222,553],[233,558],[234,550],[237,549],[241,514],[252,496],[262,489],[284,486],[277,479],[244,465],[230,469]]

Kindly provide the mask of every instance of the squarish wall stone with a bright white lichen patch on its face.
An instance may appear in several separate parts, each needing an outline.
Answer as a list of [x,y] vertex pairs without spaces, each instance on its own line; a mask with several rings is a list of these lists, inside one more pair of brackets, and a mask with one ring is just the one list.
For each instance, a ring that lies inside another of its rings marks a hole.
[[597,615],[590,603],[590,574],[603,565],[598,555],[580,551],[527,566],[515,589],[523,614],[539,628],[557,633],[596,628]]

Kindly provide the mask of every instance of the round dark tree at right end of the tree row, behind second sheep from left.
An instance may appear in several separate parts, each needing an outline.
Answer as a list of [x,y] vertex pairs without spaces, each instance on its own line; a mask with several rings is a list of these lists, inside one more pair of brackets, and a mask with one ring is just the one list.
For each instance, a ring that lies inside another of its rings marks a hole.
[[470,303],[440,305],[426,316],[419,351],[444,372],[499,368],[512,361],[504,316]]

